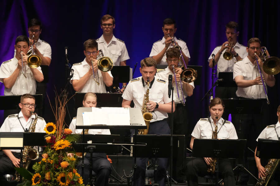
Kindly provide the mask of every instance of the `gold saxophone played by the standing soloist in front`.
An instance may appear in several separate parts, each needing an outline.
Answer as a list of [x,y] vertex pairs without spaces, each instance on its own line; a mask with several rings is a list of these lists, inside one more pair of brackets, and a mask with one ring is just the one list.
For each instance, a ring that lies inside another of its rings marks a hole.
[[149,82],[150,82],[150,80],[148,78],[147,79],[148,88],[147,88],[146,94],[144,94],[144,99],[143,99],[143,104],[142,104],[142,114],[143,114],[147,129],[138,129],[138,134],[148,134],[150,121],[153,118],[153,115],[151,113],[149,113],[148,108],[147,108],[147,103],[149,102],[149,91],[150,91]]

